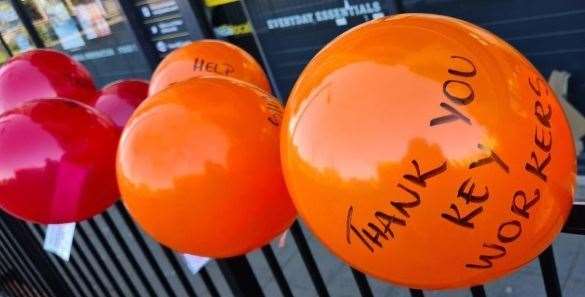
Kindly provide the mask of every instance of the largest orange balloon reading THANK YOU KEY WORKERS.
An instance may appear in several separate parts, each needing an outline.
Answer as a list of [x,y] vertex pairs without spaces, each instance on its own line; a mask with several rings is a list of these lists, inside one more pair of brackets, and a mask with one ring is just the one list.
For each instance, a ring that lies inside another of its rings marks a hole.
[[433,289],[534,259],[567,218],[576,169],[563,110],[528,61],[421,14],[366,23],[317,54],[288,100],[281,159],[333,253]]

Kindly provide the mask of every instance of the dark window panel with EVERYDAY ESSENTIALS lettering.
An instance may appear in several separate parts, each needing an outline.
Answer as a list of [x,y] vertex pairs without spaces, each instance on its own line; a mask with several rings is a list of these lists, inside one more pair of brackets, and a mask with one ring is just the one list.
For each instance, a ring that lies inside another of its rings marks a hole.
[[243,2],[276,84],[286,100],[309,60],[330,40],[394,11],[391,1],[247,0]]

